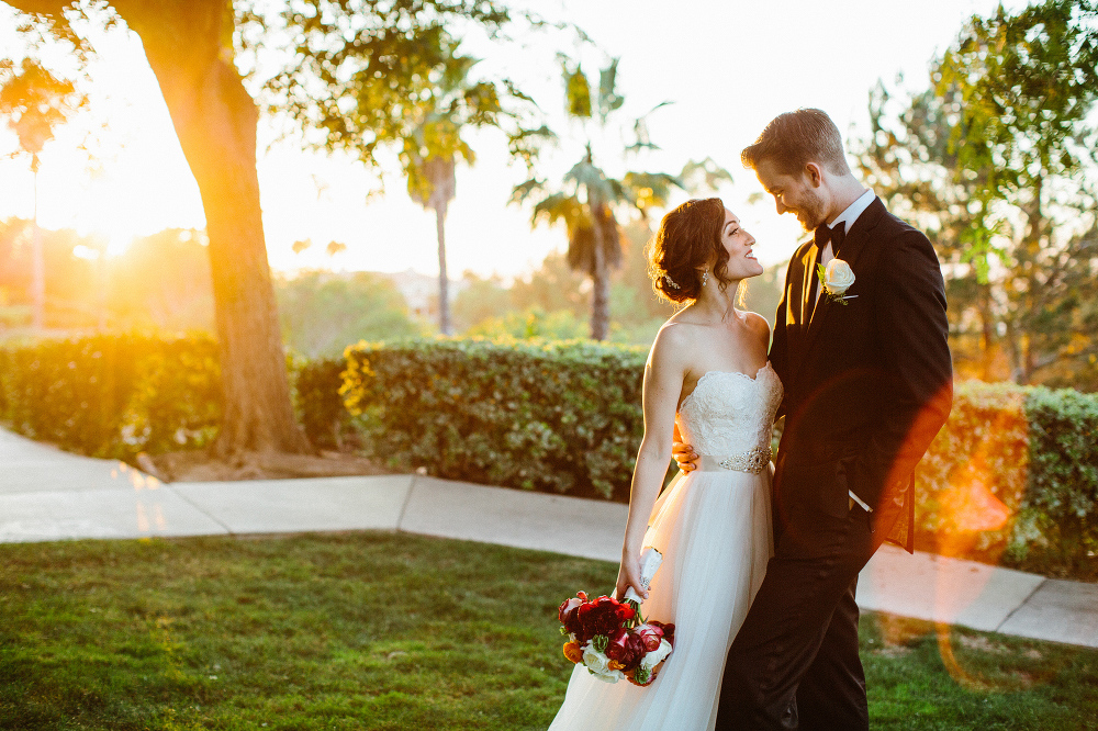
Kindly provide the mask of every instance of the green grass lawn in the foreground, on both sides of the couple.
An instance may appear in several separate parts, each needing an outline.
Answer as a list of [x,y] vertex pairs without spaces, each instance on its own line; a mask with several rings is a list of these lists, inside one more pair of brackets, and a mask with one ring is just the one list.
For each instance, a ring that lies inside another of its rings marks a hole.
[[[545,729],[616,567],[391,533],[0,546],[0,729]],[[874,729],[1098,728],[1098,652],[869,616]]]

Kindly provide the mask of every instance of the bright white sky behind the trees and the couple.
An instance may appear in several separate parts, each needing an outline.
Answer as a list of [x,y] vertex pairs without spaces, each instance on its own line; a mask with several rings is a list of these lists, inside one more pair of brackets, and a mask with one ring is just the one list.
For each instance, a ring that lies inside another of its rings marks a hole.
[[[677,172],[688,159],[712,157],[733,177],[718,194],[754,235],[759,259],[770,265],[789,257],[802,232],[795,218],[777,216],[772,200],[759,195],[754,176],[740,166],[740,150],[768,121],[800,106],[828,112],[844,137],[866,134],[871,88],[878,81],[895,87],[899,75],[906,88],[926,88],[930,60],[955,41],[966,19],[986,15],[997,4],[849,0],[837,11],[836,3],[815,0],[553,0],[539,3],[539,11],[581,26],[597,49],[561,46],[563,36],[505,49],[470,38],[467,47],[484,59],[478,67],[482,72],[514,77],[550,115],[562,136],[545,155],[542,171],[550,179],[579,158],[582,137],[582,130],[570,127],[559,112],[562,86],[554,49],[579,53],[596,79],[601,65],[619,57],[624,127],[631,128],[632,117],[660,102],[673,102],[648,117],[652,142],[661,149],[630,160],[630,168]],[[11,18],[0,3],[0,49],[18,57]],[[139,41],[116,33],[93,42],[100,52],[93,69],[96,105],[43,155],[40,222],[98,234],[112,254],[124,251],[135,236],[203,227],[198,188]],[[103,127],[91,157],[75,150],[89,125]],[[395,160],[386,166],[384,195],[367,200],[382,182],[377,171],[346,157],[303,151],[291,142],[271,145],[274,133],[267,121],[260,123],[259,138],[264,226],[273,269],[438,272],[434,213],[410,200]],[[596,156],[610,175],[626,169],[616,155],[620,138],[597,139]],[[564,248],[565,234],[544,226],[531,230],[529,211],[508,205],[512,188],[527,176],[523,166],[508,162],[498,134],[470,140],[477,161],[459,167],[446,222],[448,271],[509,280]],[[13,136],[0,133],[0,218],[30,217],[34,211],[26,159],[3,157],[13,149]],[[671,203],[685,199],[680,194]],[[314,246],[294,254],[291,247],[300,239]],[[330,240],[346,244],[346,250],[328,256],[324,249]]]

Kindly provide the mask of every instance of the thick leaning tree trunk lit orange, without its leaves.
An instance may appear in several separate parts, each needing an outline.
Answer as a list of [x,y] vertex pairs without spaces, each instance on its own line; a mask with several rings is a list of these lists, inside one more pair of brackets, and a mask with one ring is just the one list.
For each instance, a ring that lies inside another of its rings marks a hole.
[[205,211],[224,396],[214,452],[310,452],[290,402],[259,207],[259,113],[232,61],[232,3],[112,4],[145,44]]

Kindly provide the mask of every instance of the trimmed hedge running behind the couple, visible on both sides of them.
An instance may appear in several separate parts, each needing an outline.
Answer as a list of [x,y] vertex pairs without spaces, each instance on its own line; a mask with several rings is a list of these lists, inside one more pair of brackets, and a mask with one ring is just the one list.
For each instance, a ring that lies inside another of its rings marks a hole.
[[[435,340],[346,357],[343,394],[371,457],[628,501],[642,349]],[[961,383],[917,480],[920,548],[1098,580],[1098,397]]]

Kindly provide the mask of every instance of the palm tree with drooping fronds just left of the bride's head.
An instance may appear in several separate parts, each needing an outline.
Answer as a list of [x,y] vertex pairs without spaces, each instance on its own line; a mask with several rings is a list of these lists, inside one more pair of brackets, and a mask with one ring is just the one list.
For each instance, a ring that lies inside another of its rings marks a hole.
[[[565,111],[570,119],[584,124],[585,132],[590,131],[586,123],[594,113],[597,113],[600,130],[605,131],[610,113],[625,102],[615,89],[617,65],[618,59],[615,58],[602,69],[598,92],[593,94],[579,64],[561,56]],[[663,104],[651,111],[660,106]],[[646,117],[647,114],[635,120],[637,139],[623,150],[623,155],[656,148],[648,137]],[[522,204],[533,201],[530,223],[534,226],[542,222],[550,226],[564,224],[568,262],[576,271],[587,274],[593,284],[591,337],[605,340],[609,334],[609,272],[621,261],[621,235],[615,212],[634,209],[647,217],[650,207],[666,204],[672,188],[685,189],[685,185],[681,176],[666,172],[626,172],[620,179],[610,178],[595,162],[592,135],[586,137],[583,157],[564,175],[560,185],[549,185],[545,180],[533,178],[515,187],[512,202]],[[696,166],[688,164],[683,172],[692,171]]]

